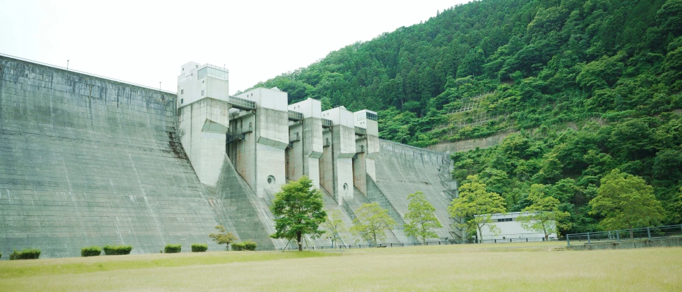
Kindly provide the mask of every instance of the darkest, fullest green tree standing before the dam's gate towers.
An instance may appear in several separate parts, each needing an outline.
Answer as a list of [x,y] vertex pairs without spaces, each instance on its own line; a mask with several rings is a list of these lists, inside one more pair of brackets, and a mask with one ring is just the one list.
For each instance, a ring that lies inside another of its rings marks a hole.
[[319,224],[324,222],[327,213],[322,209],[322,193],[312,187],[312,180],[302,176],[286,185],[275,194],[270,210],[277,216],[275,232],[272,238],[296,238],[298,251],[303,251],[303,236],[309,234],[311,238],[319,237],[324,231],[318,230]]

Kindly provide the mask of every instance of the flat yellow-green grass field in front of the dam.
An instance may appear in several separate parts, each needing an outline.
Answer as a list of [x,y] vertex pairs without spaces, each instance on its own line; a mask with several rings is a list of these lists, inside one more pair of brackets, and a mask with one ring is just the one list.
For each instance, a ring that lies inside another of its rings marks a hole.
[[552,243],[0,261],[0,291],[682,291],[682,248]]

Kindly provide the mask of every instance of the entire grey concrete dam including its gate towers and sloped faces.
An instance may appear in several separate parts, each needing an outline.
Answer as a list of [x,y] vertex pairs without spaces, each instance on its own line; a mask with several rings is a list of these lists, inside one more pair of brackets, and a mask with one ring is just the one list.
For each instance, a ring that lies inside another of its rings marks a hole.
[[287,100],[276,88],[228,95],[228,71],[210,64],[181,66],[170,93],[0,56],[0,252],[220,250],[208,238],[216,225],[281,249],[268,207],[303,175],[347,224],[363,203],[389,210],[398,226],[386,243],[419,242],[402,229],[416,191],[437,209],[440,240],[461,238],[447,213],[456,197],[448,155],[379,139],[375,112]]

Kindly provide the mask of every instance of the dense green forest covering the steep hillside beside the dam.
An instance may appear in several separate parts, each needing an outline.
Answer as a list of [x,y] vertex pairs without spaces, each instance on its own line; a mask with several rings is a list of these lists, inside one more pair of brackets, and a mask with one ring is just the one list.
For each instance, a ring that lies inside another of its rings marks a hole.
[[290,102],[379,113],[383,139],[414,146],[514,133],[455,153],[507,210],[532,184],[600,229],[588,202],[611,169],[654,187],[682,221],[682,0],[484,0],[331,52],[254,87]]

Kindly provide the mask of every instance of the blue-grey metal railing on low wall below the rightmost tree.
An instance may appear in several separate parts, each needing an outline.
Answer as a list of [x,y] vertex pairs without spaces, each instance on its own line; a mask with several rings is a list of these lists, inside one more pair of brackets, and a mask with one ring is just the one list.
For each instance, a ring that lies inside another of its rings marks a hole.
[[567,245],[593,243],[620,243],[629,240],[654,240],[682,237],[682,224],[600,232],[575,233],[566,236]]

